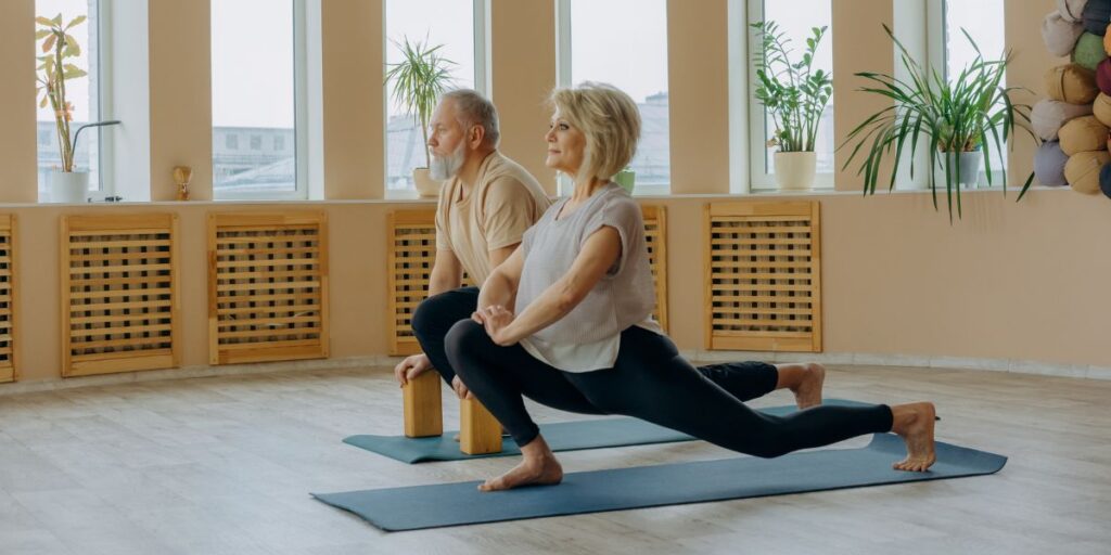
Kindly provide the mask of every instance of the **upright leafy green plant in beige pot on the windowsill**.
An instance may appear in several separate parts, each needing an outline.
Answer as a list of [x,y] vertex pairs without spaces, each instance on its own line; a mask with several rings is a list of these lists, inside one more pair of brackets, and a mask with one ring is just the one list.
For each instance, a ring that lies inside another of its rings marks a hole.
[[754,54],[755,95],[775,125],[769,147],[780,189],[810,189],[814,183],[818,124],[833,94],[833,75],[814,69],[814,52],[828,28],[813,28],[801,60],[791,59],[791,39],[774,21],[752,23],[761,47]]

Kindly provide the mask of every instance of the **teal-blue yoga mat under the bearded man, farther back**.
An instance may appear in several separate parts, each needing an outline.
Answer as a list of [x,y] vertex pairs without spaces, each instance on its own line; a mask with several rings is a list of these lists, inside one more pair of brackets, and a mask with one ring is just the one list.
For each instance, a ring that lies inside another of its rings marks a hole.
[[[867,403],[829,398],[825,405],[835,406],[870,406]],[[795,406],[775,406],[761,408],[765,414],[782,416],[798,411]],[[426,463],[431,461],[462,461],[491,456],[510,456],[521,454],[517,443],[506,437],[502,451],[488,455],[468,455],[459,451],[459,442],[452,440],[458,432],[447,432],[438,437],[406,437],[403,435],[352,435],[344,437],[343,443],[354,445],[402,463]],[[552,451],[578,451],[601,447],[622,447],[627,445],[648,445],[653,443],[674,443],[693,441],[687,434],[657,426],[638,418],[601,418],[578,422],[559,422],[541,424],[543,434]]]

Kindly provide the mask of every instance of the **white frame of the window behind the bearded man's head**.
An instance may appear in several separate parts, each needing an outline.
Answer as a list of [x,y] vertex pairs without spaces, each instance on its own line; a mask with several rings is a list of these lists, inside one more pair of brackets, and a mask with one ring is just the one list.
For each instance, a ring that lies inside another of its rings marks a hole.
[[[389,21],[387,21],[387,6],[386,3],[390,0],[382,0],[382,71],[383,78],[384,72],[389,70]],[[396,0],[403,1],[403,0]],[[471,0],[472,10],[472,38],[471,42],[474,44],[474,90],[484,95],[486,98],[493,100],[492,89],[492,77],[491,77],[491,54],[492,48],[490,44],[490,7],[491,0]],[[383,81],[384,84],[384,81]],[[382,191],[383,198],[386,200],[409,200],[416,199],[417,189],[416,185],[409,189],[390,189],[390,103],[391,90],[387,84],[383,89],[382,94]],[[428,148],[426,145],[426,148]]]

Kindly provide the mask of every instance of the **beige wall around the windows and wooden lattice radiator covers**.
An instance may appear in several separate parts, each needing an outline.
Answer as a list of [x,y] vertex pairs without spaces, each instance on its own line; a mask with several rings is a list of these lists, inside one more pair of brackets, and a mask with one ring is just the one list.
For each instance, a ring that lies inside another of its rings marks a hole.
[[[690,9],[693,3],[698,9]],[[854,71],[890,71],[891,44],[880,29],[890,22],[890,0],[834,2],[837,133],[875,109],[854,93]],[[1009,80],[1040,92],[1053,62],[1037,40],[1052,0],[1035,9],[1009,10],[1009,43],[1015,49]],[[384,101],[381,0],[324,0],[323,95],[326,194],[376,199],[383,193],[381,129]],[[725,1],[683,0],[669,6],[672,171],[675,192],[728,191],[728,83]],[[30,74],[33,0],[0,2],[0,70]],[[172,198],[169,171],[194,168],[194,195],[211,192],[211,105],[208,2],[150,0],[152,198]],[[20,23],[23,21],[26,23]],[[544,98],[554,85],[552,0],[492,0],[492,94],[503,118],[503,150],[533,171],[550,191],[551,172],[538,145],[548,121]],[[26,65],[26,67],[24,67]],[[361,68],[350,71],[351,67]],[[23,68],[23,69],[20,69]],[[28,77],[30,80],[30,77]],[[0,201],[34,198],[34,121],[31,84],[0,81]],[[27,107],[19,109],[16,107]],[[371,107],[371,108],[367,108]],[[1011,158],[1014,175],[1029,168],[1029,145]],[[839,154],[843,155],[843,154]],[[1022,175],[1024,176],[1024,175]],[[1014,180],[1012,176],[1012,185]],[[838,186],[859,186],[841,175]],[[994,192],[965,196],[965,218],[950,226],[923,194],[821,195],[825,350],[1043,361],[1111,366],[1102,345],[1100,302],[1111,271],[1111,220],[1102,199],[1069,191],[1037,191],[1021,204]],[[702,206],[737,198],[674,198],[669,209],[671,329],[680,347],[700,349],[702,337]],[[655,201],[652,201],[655,202]],[[422,204],[429,206],[428,204]],[[302,205],[273,204],[250,210]],[[326,210],[331,229],[332,355],[383,354],[384,226],[402,204],[312,204]],[[58,218],[77,210],[171,210],[181,218],[183,363],[207,361],[204,314],[204,214],[241,210],[219,204],[149,206],[14,206],[19,216],[18,342],[24,380],[59,375],[60,294]]]

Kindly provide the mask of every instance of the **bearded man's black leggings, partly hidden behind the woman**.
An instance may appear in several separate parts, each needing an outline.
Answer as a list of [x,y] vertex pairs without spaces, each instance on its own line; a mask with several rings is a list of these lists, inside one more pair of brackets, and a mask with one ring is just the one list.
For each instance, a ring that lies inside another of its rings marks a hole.
[[[456,371],[444,350],[444,337],[460,320],[469,320],[479,303],[478,287],[463,287],[422,302],[413,314],[412,327],[432,366],[451,385]],[[762,362],[730,362],[700,366],[698,371],[741,401],[751,401],[772,392],[779,371]],[[467,383],[463,380],[463,383]],[[469,384],[468,384],[469,385]],[[595,411],[597,412],[597,411]]]

